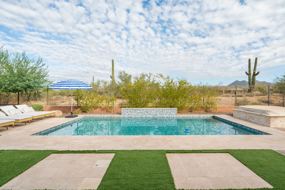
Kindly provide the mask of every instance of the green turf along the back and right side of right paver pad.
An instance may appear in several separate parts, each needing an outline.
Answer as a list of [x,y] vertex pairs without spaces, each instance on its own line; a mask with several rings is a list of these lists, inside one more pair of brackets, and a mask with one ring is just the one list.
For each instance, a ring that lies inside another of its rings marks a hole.
[[285,156],[274,150],[166,150],[166,153],[229,153],[272,185],[274,190],[285,189]]

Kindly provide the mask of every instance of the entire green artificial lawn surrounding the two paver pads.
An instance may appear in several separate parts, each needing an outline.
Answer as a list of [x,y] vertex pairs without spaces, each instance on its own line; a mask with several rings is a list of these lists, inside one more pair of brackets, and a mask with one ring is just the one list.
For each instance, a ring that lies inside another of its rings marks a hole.
[[285,190],[285,156],[273,150],[1,150],[0,186],[52,153],[116,153],[97,190],[175,190],[166,153],[211,152],[231,154],[274,186],[272,190]]

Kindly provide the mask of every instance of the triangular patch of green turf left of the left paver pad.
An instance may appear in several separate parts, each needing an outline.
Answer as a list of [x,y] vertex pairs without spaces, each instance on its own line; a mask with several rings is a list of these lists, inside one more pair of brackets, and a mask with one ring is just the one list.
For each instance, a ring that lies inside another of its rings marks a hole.
[[0,153],[0,186],[2,186],[52,154],[52,151],[1,150]]

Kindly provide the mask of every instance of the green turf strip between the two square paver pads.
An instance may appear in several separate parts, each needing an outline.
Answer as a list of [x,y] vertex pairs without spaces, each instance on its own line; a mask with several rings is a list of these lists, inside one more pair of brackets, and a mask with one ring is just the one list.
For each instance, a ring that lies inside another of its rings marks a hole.
[[165,150],[117,151],[97,188],[103,189],[175,190]]

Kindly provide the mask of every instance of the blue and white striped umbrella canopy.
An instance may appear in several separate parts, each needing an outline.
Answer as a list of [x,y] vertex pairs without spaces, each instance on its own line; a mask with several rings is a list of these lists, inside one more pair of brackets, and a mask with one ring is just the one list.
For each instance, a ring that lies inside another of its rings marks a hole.
[[49,86],[49,89],[68,89],[68,90],[76,90],[76,89],[92,89],[92,86],[78,80],[69,79],[54,83]]

